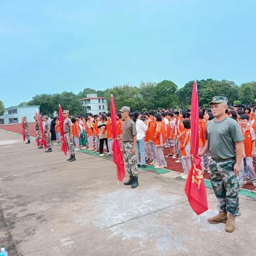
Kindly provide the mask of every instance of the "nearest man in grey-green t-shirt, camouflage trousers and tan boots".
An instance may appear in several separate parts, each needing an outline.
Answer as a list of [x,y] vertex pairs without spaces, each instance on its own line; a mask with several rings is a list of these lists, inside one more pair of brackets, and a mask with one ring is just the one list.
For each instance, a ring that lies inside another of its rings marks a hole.
[[237,121],[226,117],[228,99],[222,96],[213,97],[210,102],[215,119],[206,125],[206,144],[198,156],[210,151],[210,180],[218,199],[219,214],[209,218],[208,222],[226,223],[225,230],[234,232],[235,219],[239,213],[238,175],[243,157],[243,134]]

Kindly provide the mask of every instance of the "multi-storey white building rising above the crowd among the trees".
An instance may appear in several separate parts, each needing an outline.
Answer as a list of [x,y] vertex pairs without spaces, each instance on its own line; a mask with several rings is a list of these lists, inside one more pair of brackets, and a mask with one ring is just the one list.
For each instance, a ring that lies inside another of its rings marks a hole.
[[100,112],[108,112],[108,102],[104,97],[98,97],[97,94],[87,94],[87,97],[81,99],[85,113],[97,115]]

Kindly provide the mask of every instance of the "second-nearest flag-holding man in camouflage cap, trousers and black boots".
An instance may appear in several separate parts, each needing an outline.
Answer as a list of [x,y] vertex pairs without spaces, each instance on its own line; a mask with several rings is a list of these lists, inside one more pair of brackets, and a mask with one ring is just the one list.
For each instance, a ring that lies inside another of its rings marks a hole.
[[126,171],[129,173],[130,178],[124,185],[132,185],[131,188],[137,188],[139,186],[138,182],[138,165],[137,165],[137,155],[136,155],[136,141],[137,141],[137,131],[135,123],[130,119],[130,107],[122,107],[121,110],[123,122],[123,134],[118,136],[118,140],[123,140],[124,145],[124,164]]

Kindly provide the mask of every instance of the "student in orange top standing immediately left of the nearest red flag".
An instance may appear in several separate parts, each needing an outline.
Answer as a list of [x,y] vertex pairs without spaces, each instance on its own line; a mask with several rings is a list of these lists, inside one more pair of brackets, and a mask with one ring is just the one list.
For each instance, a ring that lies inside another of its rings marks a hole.
[[190,130],[190,121],[185,119],[182,121],[183,132],[178,135],[179,139],[181,139],[180,143],[180,151],[181,151],[181,163],[183,167],[183,174],[181,175],[182,179],[188,178],[188,173],[191,168],[191,130]]

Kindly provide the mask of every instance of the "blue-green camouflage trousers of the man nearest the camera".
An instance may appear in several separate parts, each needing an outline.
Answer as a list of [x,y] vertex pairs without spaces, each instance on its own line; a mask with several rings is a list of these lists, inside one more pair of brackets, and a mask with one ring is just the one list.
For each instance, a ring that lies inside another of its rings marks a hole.
[[218,210],[239,216],[239,183],[234,165],[235,160],[216,162],[211,159],[210,180],[218,199]]

